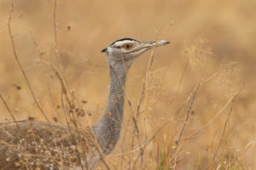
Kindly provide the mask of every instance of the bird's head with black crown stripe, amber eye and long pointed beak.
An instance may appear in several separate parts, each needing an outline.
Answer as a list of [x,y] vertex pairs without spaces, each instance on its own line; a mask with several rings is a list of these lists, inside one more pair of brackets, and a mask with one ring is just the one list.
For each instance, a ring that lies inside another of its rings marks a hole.
[[126,68],[129,68],[140,54],[143,54],[150,48],[160,47],[168,43],[170,42],[165,40],[142,42],[136,39],[123,38],[102,49],[102,53],[107,55],[109,65],[125,64]]

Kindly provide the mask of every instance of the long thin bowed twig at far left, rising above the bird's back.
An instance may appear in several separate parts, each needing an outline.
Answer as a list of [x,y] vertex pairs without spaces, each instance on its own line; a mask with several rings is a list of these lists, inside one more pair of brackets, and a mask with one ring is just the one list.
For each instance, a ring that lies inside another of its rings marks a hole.
[[42,115],[44,116],[45,120],[46,120],[47,122],[49,122],[49,119],[48,119],[47,116],[44,114],[43,109],[41,108],[41,106],[40,106],[39,103],[38,103],[38,99],[36,98],[36,95],[34,94],[34,92],[33,92],[33,90],[32,90],[32,86],[31,86],[30,82],[28,81],[28,78],[26,77],[26,72],[24,71],[22,65],[20,64],[20,59],[19,59],[18,54],[17,54],[17,52],[16,52],[15,41],[14,41],[14,37],[13,37],[12,31],[11,31],[11,20],[12,20],[11,14],[12,14],[13,10],[14,10],[14,4],[12,4],[12,5],[11,5],[11,8],[10,8],[10,14],[9,14],[9,20],[8,20],[8,31],[9,31],[9,37],[10,37],[10,40],[11,40],[11,43],[12,43],[13,52],[14,52],[14,54],[15,54],[15,60],[16,60],[17,64],[18,64],[19,67],[20,67],[20,71],[22,72],[22,75],[23,75],[23,77],[24,77],[25,80],[26,80],[26,84],[27,84],[27,86],[28,86],[28,88],[29,88],[29,91],[30,91],[31,94],[32,94],[32,97],[33,97],[33,99],[34,99],[36,105],[38,106],[39,111],[41,111],[41,113],[42,113]]

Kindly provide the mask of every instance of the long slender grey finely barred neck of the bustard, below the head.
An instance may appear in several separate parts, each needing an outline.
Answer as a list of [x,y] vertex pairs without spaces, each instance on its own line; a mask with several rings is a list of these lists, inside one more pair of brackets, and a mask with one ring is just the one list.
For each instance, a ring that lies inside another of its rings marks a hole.
[[123,65],[109,65],[108,105],[102,118],[94,125],[97,143],[105,154],[109,154],[119,140],[123,122],[127,71],[128,69],[124,69]]

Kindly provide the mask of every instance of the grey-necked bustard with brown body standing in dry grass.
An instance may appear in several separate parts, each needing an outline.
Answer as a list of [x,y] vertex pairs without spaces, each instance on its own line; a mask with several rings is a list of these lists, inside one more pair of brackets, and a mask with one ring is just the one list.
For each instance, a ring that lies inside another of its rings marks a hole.
[[104,48],[108,58],[108,105],[92,127],[67,127],[52,122],[0,123],[0,169],[93,169],[119,140],[123,122],[127,71],[140,54],[168,41],[123,38]]

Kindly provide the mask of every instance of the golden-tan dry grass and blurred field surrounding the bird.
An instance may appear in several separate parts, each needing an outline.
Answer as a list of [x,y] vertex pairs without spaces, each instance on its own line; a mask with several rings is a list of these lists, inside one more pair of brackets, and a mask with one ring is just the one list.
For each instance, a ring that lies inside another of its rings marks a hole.
[[[71,121],[88,125],[107,103],[101,49],[122,37],[167,39],[131,67],[131,105],[108,167],[255,169],[255,7],[253,0],[22,0],[10,14],[11,2],[1,0],[0,94],[16,120],[65,124],[73,112]],[[2,101],[1,122],[12,120]]]

